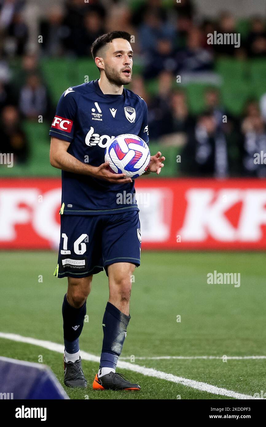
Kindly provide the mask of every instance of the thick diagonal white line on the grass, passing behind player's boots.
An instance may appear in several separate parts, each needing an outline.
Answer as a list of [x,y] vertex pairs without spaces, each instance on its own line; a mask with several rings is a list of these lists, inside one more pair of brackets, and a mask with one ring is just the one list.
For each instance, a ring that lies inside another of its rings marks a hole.
[[[25,342],[27,344],[38,345],[39,347],[47,348],[51,351],[63,354],[64,345],[57,344],[56,342],[44,341],[42,339],[30,338],[26,336],[17,335],[15,333],[4,333],[0,332],[0,338],[11,339],[16,342]],[[90,362],[99,363],[100,358],[94,354],[81,351],[80,356],[83,360],[89,360]],[[173,374],[167,374],[163,371],[157,371],[156,369],[146,368],[145,366],[136,365],[135,363],[121,362],[118,361],[117,367],[121,369],[128,369],[129,371],[138,372],[147,377],[155,377],[161,380],[171,381],[172,383],[182,384],[183,386],[192,387],[193,389],[200,390],[202,392],[212,393],[214,395],[222,395],[235,399],[262,399],[255,398],[254,396],[244,395],[242,393],[234,392],[234,390],[227,390],[221,387],[212,386],[208,383],[202,383],[200,381],[190,380],[188,378],[177,377]]]

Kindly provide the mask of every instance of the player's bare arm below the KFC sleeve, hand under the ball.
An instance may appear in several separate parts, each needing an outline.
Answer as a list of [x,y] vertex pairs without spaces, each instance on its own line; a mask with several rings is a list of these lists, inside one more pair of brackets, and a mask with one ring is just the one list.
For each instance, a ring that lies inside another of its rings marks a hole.
[[82,163],[67,152],[69,145],[70,143],[67,141],[51,137],[50,163],[53,167],[80,175],[90,175],[94,178],[104,179],[105,181],[116,182],[119,184],[132,182],[132,179],[126,177],[126,174],[117,175],[111,173],[108,168],[108,162],[101,164],[99,167]]

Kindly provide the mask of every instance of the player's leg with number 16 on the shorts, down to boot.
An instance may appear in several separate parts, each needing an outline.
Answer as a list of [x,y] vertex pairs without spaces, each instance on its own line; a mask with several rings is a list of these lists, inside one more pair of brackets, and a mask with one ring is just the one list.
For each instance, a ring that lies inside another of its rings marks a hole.
[[[61,240],[55,275],[67,277],[68,288],[62,305],[64,330],[64,383],[70,387],[86,387],[79,336],[86,314],[86,300],[93,274],[102,271],[99,225],[90,216],[61,216]],[[90,244],[88,243],[90,240]]]

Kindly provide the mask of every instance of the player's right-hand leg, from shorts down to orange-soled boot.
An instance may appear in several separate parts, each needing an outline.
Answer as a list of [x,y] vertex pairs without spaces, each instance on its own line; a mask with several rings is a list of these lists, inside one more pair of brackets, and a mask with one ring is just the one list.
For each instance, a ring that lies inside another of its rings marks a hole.
[[103,343],[94,389],[139,390],[115,372],[130,320],[132,274],[140,265],[140,222],[138,212],[114,215],[103,242],[104,266],[109,278],[109,300],[102,320]]

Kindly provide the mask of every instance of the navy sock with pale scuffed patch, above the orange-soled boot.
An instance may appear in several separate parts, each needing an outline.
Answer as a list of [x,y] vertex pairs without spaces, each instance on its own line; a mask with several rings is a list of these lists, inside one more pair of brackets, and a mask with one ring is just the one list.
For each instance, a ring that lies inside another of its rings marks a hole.
[[118,310],[111,302],[107,303],[102,319],[103,342],[100,368],[116,368],[130,317]]

